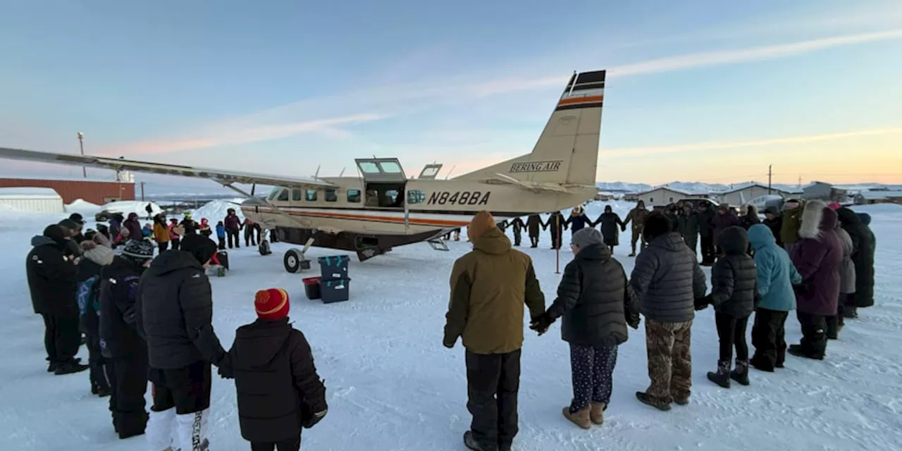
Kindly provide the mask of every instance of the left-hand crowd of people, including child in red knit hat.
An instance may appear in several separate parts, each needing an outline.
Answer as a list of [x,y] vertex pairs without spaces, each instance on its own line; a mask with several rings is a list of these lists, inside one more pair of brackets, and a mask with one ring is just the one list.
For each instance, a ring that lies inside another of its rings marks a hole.
[[[234,236],[233,218],[230,210],[222,222]],[[34,312],[44,319],[48,372],[89,370],[91,392],[109,397],[118,437],[146,435],[154,451],[201,451],[209,448],[215,365],[235,379],[251,448],[299,449],[301,430],[323,419],[327,402],[307,339],[289,323],[288,294],[259,291],[258,319],[239,327],[226,351],[213,329],[206,274],[222,239],[217,245],[207,221],[198,225],[190,215],[170,225],[162,215],[153,221],[148,234],[134,213],[83,233],[83,217],[73,214],[32,238],[26,273]],[[76,357],[82,344],[87,364]]]

